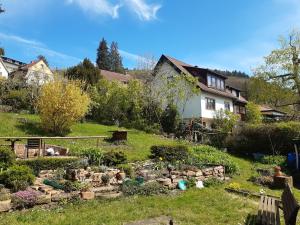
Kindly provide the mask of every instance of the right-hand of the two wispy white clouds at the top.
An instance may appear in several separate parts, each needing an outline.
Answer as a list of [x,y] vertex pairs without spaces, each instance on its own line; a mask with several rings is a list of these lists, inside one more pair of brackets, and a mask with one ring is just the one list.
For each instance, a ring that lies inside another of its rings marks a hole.
[[153,20],[156,19],[157,11],[161,5],[149,5],[145,0],[125,0],[128,7],[137,14],[140,20]]

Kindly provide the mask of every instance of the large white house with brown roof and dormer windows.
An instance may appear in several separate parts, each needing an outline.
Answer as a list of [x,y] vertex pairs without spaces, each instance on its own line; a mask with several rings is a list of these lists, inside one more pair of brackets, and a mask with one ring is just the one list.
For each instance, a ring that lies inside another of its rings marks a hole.
[[162,80],[166,77],[169,79],[182,73],[198,78],[201,92],[189,99],[184,109],[179,109],[183,119],[198,118],[203,125],[211,127],[217,110],[229,110],[244,119],[247,101],[240,90],[226,84],[226,76],[165,55],[161,56],[154,71],[154,82],[158,85],[164,85]]

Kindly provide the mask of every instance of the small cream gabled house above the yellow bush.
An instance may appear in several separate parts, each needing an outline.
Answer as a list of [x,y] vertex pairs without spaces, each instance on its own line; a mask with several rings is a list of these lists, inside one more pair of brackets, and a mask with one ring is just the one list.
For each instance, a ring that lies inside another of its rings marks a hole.
[[54,79],[54,74],[42,59],[20,66],[9,76],[23,78],[28,84],[35,85],[42,85]]

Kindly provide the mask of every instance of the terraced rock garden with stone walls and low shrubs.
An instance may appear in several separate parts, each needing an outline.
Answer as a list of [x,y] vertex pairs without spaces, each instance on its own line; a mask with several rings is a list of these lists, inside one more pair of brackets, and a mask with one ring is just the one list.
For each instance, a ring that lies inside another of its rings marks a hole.
[[148,160],[131,163],[122,151],[98,148],[70,158],[16,160],[6,148],[0,154],[1,212],[73,200],[180,193],[238,173],[230,158],[210,146],[152,146]]

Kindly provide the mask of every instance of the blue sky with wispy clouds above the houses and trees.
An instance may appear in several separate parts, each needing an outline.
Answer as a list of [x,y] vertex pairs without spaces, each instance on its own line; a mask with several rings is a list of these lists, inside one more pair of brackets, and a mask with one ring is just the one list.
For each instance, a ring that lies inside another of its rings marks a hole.
[[300,27],[299,0],[0,0],[0,45],[65,68],[95,60],[102,37],[125,67],[167,54],[192,65],[251,73],[279,35]]

